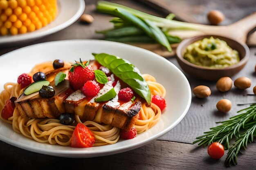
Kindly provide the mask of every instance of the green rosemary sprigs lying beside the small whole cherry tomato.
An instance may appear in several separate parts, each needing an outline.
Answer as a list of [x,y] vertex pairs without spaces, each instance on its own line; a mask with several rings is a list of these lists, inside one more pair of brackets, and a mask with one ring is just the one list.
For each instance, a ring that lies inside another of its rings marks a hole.
[[[226,166],[237,164],[237,155],[241,148],[247,146],[248,141],[253,141],[253,134],[256,128],[256,104],[238,111],[239,115],[231,117],[227,121],[221,121],[221,125],[210,128],[211,131],[204,132],[205,135],[196,137],[193,144],[200,142],[199,146],[207,146],[213,142],[223,144],[228,149],[228,155],[225,161]],[[243,133],[240,130],[243,130]],[[229,148],[229,141],[235,137],[235,144]],[[250,137],[250,138],[249,138]]]

